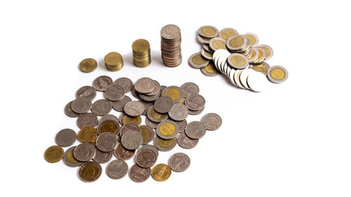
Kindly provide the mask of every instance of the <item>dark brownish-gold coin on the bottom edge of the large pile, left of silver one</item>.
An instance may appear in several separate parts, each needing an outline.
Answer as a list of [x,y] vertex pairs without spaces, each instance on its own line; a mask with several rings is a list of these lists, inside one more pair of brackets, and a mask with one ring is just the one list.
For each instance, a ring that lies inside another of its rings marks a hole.
[[84,182],[93,182],[101,175],[101,165],[95,161],[88,161],[79,167],[79,178]]

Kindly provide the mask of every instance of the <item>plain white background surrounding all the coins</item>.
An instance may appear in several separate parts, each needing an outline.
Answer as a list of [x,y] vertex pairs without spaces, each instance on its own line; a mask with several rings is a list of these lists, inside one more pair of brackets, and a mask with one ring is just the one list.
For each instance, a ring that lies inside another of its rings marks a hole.
[[[347,1],[1,1],[1,196],[351,196],[350,16]],[[161,64],[167,24],[182,32],[176,68]],[[268,63],[286,67],[289,79],[253,93],[192,69],[187,58],[201,48],[202,25],[257,34],[274,49]],[[152,48],[145,69],[131,64],[140,38]],[[102,64],[111,51],[124,57],[119,72]],[[95,72],[79,72],[86,57],[98,60]],[[105,171],[81,182],[77,168],[43,154],[60,129],[78,131],[63,108],[100,75],[193,81],[204,114],[220,114],[223,125],[194,149],[161,152],[158,163],[177,151],[192,162],[166,182],[114,180]]]

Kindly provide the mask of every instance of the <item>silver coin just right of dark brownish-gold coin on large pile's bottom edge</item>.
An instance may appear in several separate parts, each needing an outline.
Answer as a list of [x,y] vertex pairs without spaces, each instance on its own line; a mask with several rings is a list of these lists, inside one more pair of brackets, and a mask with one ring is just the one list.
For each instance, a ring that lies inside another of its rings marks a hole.
[[106,166],[106,174],[111,179],[121,179],[128,172],[128,165],[125,161],[116,159]]

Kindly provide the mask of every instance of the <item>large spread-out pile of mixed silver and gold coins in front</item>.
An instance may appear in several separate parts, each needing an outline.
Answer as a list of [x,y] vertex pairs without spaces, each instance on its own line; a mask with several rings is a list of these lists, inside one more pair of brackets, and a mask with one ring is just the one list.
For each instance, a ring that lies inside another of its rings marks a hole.
[[[96,91],[106,99],[92,102]],[[131,100],[126,95],[129,92],[140,100]],[[205,103],[199,87],[192,82],[166,87],[146,77],[133,84],[126,77],[112,81],[109,76],[99,76],[93,86],[79,88],[76,99],[65,106],[65,114],[77,118],[79,132],[60,130],[55,137],[58,145],[46,149],[44,158],[51,163],[62,159],[69,167],[79,167],[78,175],[84,182],[98,179],[102,174],[100,163],[109,162],[113,156],[117,159],[105,169],[112,179],[121,179],[128,173],[134,182],[144,182],[150,176],[165,181],[172,171],[185,171],[190,158],[176,153],[168,164],[156,165],[159,151],[170,151],[176,144],[192,149],[206,130],[220,128],[222,119],[214,113],[187,123],[187,116],[201,114]],[[119,118],[110,114],[112,109],[121,112]],[[146,116],[146,125],[141,125],[141,116]],[[80,144],[72,146],[76,139]],[[69,148],[64,151],[62,147]],[[134,158],[135,164],[128,170],[125,161],[130,158]]]

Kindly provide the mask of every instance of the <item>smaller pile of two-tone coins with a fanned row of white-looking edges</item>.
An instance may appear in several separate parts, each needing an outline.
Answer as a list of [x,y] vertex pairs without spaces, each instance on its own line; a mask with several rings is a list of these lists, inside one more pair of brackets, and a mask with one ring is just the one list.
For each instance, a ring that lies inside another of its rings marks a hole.
[[206,76],[222,73],[234,86],[255,92],[266,88],[267,79],[282,83],[289,76],[284,67],[270,67],[265,62],[273,56],[273,50],[270,46],[258,45],[256,34],[241,35],[232,28],[218,32],[216,27],[206,25],[199,28],[197,39],[203,44],[201,52],[191,55],[189,64],[201,69]]

